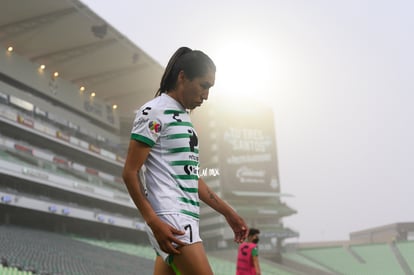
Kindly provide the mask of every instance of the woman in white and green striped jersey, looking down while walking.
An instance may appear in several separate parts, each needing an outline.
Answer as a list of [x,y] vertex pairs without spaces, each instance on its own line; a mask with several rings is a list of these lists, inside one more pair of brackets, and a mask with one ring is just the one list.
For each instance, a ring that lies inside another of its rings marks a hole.
[[154,275],[213,274],[199,235],[200,200],[226,218],[236,242],[248,233],[244,220],[198,176],[198,138],[189,111],[208,99],[215,71],[203,52],[179,48],[156,97],[133,123],[123,179],[157,253]]

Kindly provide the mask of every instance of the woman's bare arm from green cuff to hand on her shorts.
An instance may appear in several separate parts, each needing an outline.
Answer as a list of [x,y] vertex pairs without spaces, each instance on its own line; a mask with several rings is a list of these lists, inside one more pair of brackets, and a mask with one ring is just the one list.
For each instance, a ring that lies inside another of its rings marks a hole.
[[180,252],[172,245],[172,242],[177,243],[180,246],[185,245],[174,236],[174,234],[183,234],[183,232],[160,220],[147,200],[142,190],[141,182],[138,178],[138,172],[145,160],[148,158],[150,151],[151,147],[149,145],[131,139],[122,172],[122,178],[132,200],[137,206],[145,222],[154,233],[160,248],[169,254],[179,254]]

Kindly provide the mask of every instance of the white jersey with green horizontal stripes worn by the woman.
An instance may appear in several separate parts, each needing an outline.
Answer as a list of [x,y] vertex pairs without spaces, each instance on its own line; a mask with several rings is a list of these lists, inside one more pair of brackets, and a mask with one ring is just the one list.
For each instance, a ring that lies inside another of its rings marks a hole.
[[161,94],[138,110],[131,139],[152,147],[144,175],[147,198],[155,212],[198,219],[198,138],[187,111]]

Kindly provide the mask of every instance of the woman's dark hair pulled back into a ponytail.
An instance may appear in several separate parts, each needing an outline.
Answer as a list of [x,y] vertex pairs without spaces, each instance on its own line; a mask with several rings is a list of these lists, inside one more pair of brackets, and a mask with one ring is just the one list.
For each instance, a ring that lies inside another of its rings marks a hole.
[[181,47],[168,61],[155,96],[174,89],[180,71],[184,71],[186,77],[193,80],[196,77],[204,76],[208,70],[216,71],[216,65],[208,55],[202,51]]

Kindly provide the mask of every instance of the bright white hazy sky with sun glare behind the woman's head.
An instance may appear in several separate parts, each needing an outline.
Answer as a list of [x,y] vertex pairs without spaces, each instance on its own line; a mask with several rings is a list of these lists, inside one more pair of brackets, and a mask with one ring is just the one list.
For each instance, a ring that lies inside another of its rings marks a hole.
[[82,1],[163,66],[205,51],[212,96],[272,104],[291,241],[414,221],[414,1]]

